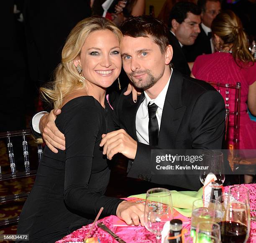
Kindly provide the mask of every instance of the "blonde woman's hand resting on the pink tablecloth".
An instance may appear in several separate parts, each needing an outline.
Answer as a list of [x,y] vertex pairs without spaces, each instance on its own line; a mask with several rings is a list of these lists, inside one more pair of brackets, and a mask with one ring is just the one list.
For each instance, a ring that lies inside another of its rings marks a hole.
[[136,202],[123,201],[118,205],[116,215],[128,225],[145,226],[144,205]]

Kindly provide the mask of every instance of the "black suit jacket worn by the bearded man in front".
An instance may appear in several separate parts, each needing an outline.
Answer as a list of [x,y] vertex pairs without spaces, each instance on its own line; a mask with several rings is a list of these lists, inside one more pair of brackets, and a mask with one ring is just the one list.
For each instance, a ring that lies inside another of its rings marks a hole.
[[[125,89],[126,90],[126,89]],[[123,128],[136,141],[136,113],[144,99],[136,103],[132,95],[120,95],[115,104],[116,128]],[[159,130],[158,148],[221,149],[225,126],[222,96],[208,83],[182,75],[173,69]],[[199,175],[151,175],[151,148],[139,143],[134,161],[129,161],[128,176],[149,178],[157,184],[199,189]]]

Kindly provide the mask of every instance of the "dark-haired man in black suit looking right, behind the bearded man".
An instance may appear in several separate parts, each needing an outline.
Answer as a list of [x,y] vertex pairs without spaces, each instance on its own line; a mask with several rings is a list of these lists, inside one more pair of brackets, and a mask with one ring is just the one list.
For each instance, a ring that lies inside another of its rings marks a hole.
[[173,66],[183,74],[190,75],[184,46],[193,45],[200,33],[200,8],[191,2],[174,5],[169,16],[169,43],[172,45]]

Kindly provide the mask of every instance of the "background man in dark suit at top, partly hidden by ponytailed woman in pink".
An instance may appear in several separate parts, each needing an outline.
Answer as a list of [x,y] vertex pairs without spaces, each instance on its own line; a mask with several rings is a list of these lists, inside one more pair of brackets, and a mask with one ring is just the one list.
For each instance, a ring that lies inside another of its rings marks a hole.
[[200,34],[192,46],[186,46],[185,54],[187,61],[195,61],[197,56],[202,54],[211,54],[215,51],[212,43],[212,20],[220,13],[220,0],[198,0],[198,7],[202,10],[200,24]]

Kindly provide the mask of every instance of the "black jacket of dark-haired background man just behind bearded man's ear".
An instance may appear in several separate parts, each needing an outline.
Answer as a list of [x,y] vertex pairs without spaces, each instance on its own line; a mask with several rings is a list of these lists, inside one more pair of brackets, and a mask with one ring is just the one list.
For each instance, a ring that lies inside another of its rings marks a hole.
[[187,59],[182,51],[182,48],[179,44],[178,39],[173,35],[171,31],[169,31],[169,43],[173,49],[173,56],[172,56],[172,64],[173,67],[179,70],[182,74],[186,74],[190,76],[190,69],[189,65],[187,64]]

